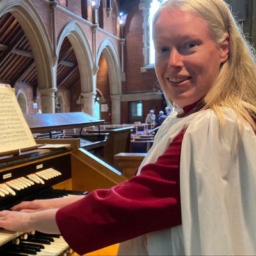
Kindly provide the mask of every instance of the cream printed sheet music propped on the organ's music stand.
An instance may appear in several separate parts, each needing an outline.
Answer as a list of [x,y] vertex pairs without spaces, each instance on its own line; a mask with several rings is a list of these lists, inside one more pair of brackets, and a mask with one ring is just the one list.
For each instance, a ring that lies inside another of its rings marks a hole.
[[35,146],[14,89],[0,84],[0,153]]

